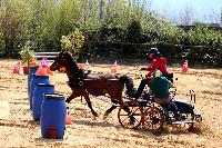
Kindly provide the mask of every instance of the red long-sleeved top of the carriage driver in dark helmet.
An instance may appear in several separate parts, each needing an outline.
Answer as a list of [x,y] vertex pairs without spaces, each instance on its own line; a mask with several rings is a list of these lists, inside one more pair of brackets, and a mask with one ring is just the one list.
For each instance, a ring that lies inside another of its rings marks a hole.
[[168,70],[167,70],[167,58],[154,58],[152,61],[151,61],[151,66],[148,67],[148,73],[145,75],[145,78],[149,78],[153,71],[155,70],[160,70],[162,73],[168,73]]

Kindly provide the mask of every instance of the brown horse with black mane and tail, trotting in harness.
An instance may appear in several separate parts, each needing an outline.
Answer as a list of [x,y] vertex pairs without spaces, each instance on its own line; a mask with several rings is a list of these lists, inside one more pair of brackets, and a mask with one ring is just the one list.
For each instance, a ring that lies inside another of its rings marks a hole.
[[105,118],[114,108],[117,108],[117,105],[121,105],[123,102],[122,91],[124,89],[124,83],[127,86],[127,95],[134,92],[132,79],[128,76],[117,77],[111,73],[85,72],[85,70],[78,67],[77,62],[69,52],[60,52],[54,59],[54,62],[50,66],[50,69],[54,71],[59,70],[61,67],[65,68],[65,72],[69,78],[68,85],[72,89],[72,95],[67,98],[65,101],[70,102],[73,98],[83,96],[94,117],[98,117],[98,114],[92,108],[89,95],[109,95],[112,106],[104,112]]

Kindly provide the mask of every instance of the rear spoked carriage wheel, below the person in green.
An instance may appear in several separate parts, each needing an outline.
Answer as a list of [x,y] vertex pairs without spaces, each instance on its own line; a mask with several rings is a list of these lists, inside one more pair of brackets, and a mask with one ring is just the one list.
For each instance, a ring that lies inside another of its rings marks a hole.
[[143,122],[142,126],[145,130],[155,130],[162,128],[163,116],[162,111],[158,107],[144,107],[143,108]]

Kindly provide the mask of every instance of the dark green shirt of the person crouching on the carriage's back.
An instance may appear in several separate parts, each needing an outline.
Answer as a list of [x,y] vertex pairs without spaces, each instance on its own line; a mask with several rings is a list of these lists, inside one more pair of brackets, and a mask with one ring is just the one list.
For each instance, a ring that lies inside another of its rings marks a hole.
[[165,77],[158,77],[153,79],[150,85],[155,98],[168,98],[170,81]]

